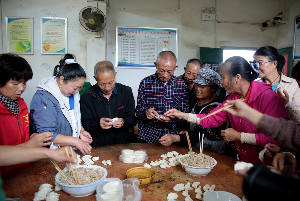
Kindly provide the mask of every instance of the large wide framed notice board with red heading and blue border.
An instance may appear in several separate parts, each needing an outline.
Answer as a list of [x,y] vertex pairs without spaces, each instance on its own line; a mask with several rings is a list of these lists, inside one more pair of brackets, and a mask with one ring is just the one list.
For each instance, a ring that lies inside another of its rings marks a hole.
[[116,29],[116,67],[155,68],[159,52],[170,50],[177,57],[178,29],[120,27]]

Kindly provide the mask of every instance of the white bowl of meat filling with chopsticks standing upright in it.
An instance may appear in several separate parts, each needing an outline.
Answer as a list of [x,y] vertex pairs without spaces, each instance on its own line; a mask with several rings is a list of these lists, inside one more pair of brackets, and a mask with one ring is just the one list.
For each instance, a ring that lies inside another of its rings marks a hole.
[[192,176],[205,176],[211,172],[217,161],[205,154],[183,155],[179,158],[183,170]]

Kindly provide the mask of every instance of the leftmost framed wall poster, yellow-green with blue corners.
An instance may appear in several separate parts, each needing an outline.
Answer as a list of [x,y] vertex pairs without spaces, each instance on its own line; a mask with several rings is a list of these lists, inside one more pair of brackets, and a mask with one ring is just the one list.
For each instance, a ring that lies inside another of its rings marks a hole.
[[33,17],[5,16],[7,52],[33,54]]

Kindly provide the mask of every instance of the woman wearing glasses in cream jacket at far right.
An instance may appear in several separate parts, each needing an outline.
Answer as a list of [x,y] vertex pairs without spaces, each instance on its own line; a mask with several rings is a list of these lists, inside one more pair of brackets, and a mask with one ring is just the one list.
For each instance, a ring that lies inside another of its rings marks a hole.
[[285,64],[283,55],[271,46],[261,47],[254,53],[254,60],[259,67],[258,82],[270,84],[285,104],[286,119],[300,124],[300,88],[295,79],[289,78],[281,72]]

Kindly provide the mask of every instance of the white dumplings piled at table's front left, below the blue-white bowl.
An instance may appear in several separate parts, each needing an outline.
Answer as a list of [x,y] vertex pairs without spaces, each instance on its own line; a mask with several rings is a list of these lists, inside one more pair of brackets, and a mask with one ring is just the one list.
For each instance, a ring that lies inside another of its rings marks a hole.
[[[52,191],[52,187],[53,186],[51,184],[42,184],[38,189],[39,191],[35,193],[35,197],[33,198],[33,201],[40,201],[40,200],[58,201],[59,194]],[[55,190],[56,190],[56,186],[55,186]]]

